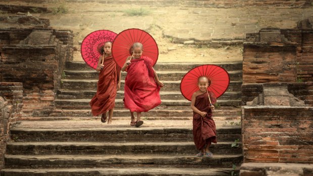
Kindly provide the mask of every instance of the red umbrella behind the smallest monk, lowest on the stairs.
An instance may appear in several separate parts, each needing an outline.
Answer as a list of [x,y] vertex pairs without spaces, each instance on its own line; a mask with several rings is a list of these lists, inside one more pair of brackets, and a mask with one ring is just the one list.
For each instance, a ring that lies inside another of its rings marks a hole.
[[213,92],[217,98],[228,88],[230,79],[225,69],[216,65],[198,66],[186,73],[180,83],[180,91],[189,101],[191,101],[192,94],[199,90],[198,78],[200,76],[206,76],[211,81],[207,90]]

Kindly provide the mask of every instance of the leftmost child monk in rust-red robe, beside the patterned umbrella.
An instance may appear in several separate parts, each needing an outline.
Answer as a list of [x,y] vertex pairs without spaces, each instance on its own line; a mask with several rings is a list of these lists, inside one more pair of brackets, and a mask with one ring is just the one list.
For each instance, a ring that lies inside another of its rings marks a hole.
[[109,111],[108,124],[112,123],[113,109],[115,105],[115,97],[121,86],[120,67],[115,63],[112,57],[112,42],[107,41],[103,46],[102,53],[105,58],[102,64],[103,55],[99,56],[97,68],[99,73],[99,81],[97,84],[97,93],[90,101],[92,115],[101,115],[101,122],[107,122],[107,112]]

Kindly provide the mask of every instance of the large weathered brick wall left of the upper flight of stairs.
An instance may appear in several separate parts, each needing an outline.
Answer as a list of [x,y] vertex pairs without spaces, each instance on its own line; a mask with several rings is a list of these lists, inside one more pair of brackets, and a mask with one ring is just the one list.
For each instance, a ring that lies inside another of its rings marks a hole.
[[[9,38],[2,41],[0,81],[23,83],[25,115],[43,108],[53,109],[65,61],[73,60],[72,31],[49,28],[2,31]],[[12,36],[16,40],[11,40]]]

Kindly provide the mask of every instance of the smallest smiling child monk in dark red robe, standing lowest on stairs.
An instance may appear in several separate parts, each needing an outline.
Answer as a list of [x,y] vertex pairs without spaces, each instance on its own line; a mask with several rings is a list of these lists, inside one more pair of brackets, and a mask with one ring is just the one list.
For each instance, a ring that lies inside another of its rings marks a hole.
[[[205,76],[198,78],[198,91],[194,92],[191,97],[191,109],[193,110],[193,141],[197,149],[200,150],[196,156],[213,156],[208,149],[211,143],[216,141],[216,127],[212,118],[212,110],[214,110],[214,103],[216,103],[216,96],[212,92],[207,92],[207,87],[211,81]],[[211,98],[208,99],[208,94]]]

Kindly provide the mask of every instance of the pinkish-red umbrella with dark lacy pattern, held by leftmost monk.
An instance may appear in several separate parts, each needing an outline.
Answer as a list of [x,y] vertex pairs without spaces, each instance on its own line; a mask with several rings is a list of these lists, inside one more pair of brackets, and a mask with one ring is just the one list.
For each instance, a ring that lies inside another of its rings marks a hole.
[[103,45],[107,41],[113,42],[116,36],[116,33],[109,30],[98,30],[88,34],[80,47],[80,53],[85,63],[96,69]]

